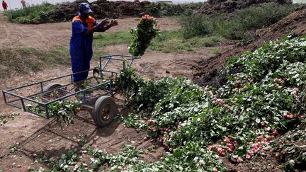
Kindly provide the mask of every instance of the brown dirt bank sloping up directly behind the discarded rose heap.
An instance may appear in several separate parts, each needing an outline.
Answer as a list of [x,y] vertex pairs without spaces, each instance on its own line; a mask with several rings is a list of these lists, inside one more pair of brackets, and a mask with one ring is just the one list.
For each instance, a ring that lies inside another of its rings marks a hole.
[[256,30],[256,40],[249,45],[241,45],[239,41],[229,41],[225,42],[224,46],[220,45],[222,52],[219,55],[200,60],[193,66],[193,82],[200,86],[217,87],[225,84],[226,76],[221,74],[220,70],[226,66],[227,59],[256,50],[265,42],[277,40],[283,35],[306,35],[306,6],[267,28]]

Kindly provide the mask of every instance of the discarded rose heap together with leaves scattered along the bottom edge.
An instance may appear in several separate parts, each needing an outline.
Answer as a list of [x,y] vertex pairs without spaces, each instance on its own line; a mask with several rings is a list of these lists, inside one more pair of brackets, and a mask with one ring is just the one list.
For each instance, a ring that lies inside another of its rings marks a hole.
[[146,81],[127,67],[116,89],[139,115],[120,120],[147,130],[167,153],[147,164],[140,156],[144,151],[135,147],[124,145],[113,155],[89,146],[82,153],[89,155],[91,164],[81,163],[80,150],[70,150],[46,171],[215,172],[228,171],[222,157],[239,164],[267,156],[278,158],[284,171],[294,171],[306,164],[301,146],[306,134],[305,54],[304,36],[232,57],[225,71],[239,73],[229,75],[220,88],[201,88],[185,78]]

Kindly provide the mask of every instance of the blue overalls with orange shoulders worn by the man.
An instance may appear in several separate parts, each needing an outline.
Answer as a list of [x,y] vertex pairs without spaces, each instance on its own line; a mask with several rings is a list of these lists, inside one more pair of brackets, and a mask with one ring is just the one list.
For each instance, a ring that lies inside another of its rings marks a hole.
[[[85,32],[98,23],[89,16],[86,21],[81,20],[81,14],[72,20],[72,37],[70,39],[69,52],[72,61],[72,72],[86,71],[90,69],[90,61],[93,55],[93,35],[86,35]],[[89,71],[74,74],[73,81],[81,81],[87,78]]]

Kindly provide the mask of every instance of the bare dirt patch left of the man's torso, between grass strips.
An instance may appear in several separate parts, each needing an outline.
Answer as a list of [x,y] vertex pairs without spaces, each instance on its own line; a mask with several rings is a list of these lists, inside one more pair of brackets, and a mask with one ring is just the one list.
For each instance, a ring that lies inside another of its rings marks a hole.
[[0,48],[33,47],[48,50],[52,47],[69,45],[70,23],[47,23],[29,25],[10,23],[4,13],[0,13]]

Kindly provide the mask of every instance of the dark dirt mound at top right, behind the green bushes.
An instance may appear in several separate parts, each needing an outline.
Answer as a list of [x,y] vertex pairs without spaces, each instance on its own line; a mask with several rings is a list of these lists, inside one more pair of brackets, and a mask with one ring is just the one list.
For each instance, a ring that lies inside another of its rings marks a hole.
[[220,12],[231,13],[237,9],[269,2],[278,4],[293,3],[291,0],[208,0],[198,11],[196,11],[196,13],[206,15]]

